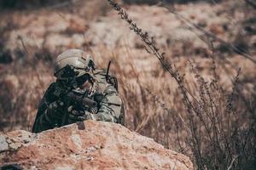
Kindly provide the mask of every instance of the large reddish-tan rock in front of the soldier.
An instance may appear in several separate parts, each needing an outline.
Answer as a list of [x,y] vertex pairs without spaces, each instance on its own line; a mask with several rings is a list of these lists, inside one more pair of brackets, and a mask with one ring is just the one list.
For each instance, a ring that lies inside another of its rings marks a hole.
[[187,156],[109,122],[0,136],[0,165],[24,169],[193,169]]

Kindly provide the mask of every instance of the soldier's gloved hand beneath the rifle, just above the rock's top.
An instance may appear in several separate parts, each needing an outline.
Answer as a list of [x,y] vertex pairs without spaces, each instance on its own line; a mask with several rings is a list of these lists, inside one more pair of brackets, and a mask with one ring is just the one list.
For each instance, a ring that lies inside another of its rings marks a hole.
[[81,122],[86,120],[86,111],[77,111],[73,105],[69,106],[68,109],[68,123]]

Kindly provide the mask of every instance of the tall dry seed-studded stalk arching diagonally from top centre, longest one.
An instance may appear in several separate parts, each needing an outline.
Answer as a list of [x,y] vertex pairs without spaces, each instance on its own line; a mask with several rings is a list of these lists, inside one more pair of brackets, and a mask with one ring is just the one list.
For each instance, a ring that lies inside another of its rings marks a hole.
[[[110,5],[113,6],[113,8],[118,11],[119,16],[121,17],[122,20],[125,20],[129,25],[130,25],[130,29],[134,32],[137,33],[137,35],[139,37],[141,37],[141,40],[143,42],[145,42],[147,48],[147,52],[149,54],[154,54],[155,57],[157,57],[160,60],[160,64],[162,65],[162,67],[164,68],[165,71],[167,71],[177,82],[178,87],[181,90],[181,93],[183,94],[183,104],[186,106],[187,109],[187,116],[189,119],[189,129],[190,129],[190,133],[191,136],[193,137],[193,139],[191,139],[191,143],[196,146],[197,148],[195,149],[195,156],[198,156],[199,158],[197,160],[201,160],[201,144],[200,144],[200,139],[198,139],[198,136],[196,135],[196,128],[195,128],[195,120],[193,119],[193,111],[195,111],[195,113],[199,114],[198,111],[196,110],[196,108],[194,107],[194,105],[192,105],[189,96],[187,93],[190,94],[190,96],[194,98],[194,96],[189,92],[189,90],[187,88],[184,87],[183,85],[183,77],[180,76],[179,72],[174,69],[174,67],[172,66],[172,63],[169,62],[166,57],[164,56],[165,53],[164,52],[160,52],[160,49],[157,48],[155,46],[154,43],[154,38],[153,37],[149,37],[148,36],[148,32],[143,32],[141,28],[137,27],[137,24],[135,22],[133,22],[128,14],[126,13],[126,11],[123,8],[120,8],[118,3],[115,3],[115,1],[113,0],[108,0],[108,3]],[[195,99],[195,101],[198,103],[198,101]],[[202,165],[201,162],[198,162],[198,165]]]

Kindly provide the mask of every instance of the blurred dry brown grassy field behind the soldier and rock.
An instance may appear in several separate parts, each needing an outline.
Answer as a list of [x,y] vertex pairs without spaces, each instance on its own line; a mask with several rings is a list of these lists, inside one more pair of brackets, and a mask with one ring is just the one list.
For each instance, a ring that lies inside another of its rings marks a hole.
[[56,56],[80,48],[98,68],[113,59],[125,127],[198,169],[255,169],[255,1],[117,2],[175,65],[191,105],[107,0],[0,0],[1,131],[31,131]]

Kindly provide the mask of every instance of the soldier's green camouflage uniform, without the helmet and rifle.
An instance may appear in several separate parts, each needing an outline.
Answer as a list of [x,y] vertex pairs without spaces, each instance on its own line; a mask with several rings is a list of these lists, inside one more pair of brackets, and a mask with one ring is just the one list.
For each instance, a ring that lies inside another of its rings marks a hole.
[[[93,78],[95,80],[93,84],[94,93],[90,96],[90,99],[96,101],[98,110],[94,114],[90,111],[83,111],[84,116],[81,120],[79,119],[79,121],[91,119],[104,122],[116,122],[124,125],[125,114],[123,102],[119,98],[118,90],[115,85],[107,81],[106,71],[93,71]],[[55,105],[55,102],[58,100],[55,96],[55,91],[59,88],[64,88],[64,86],[56,81],[46,90],[44,98],[41,100],[38,107],[38,113],[32,127],[33,133],[39,133],[47,129],[76,122],[68,121],[64,124],[61,122],[63,113],[67,111],[67,104],[57,105],[56,109],[52,109],[54,106],[51,104]],[[49,111],[54,112],[51,113],[53,116],[47,114]]]

